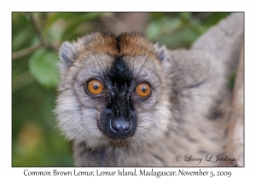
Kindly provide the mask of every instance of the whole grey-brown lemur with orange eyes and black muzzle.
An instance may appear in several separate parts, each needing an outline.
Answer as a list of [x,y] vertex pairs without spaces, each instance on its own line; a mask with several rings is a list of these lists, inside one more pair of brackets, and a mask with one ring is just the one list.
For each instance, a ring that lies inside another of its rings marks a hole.
[[55,113],[75,165],[221,165],[206,158],[224,153],[226,84],[242,41],[243,14],[235,13],[190,49],[168,50],[137,33],[63,43]]

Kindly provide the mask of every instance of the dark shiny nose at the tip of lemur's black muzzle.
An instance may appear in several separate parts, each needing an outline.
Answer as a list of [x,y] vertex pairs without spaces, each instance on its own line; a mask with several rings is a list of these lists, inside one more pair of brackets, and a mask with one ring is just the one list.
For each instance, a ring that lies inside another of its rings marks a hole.
[[127,120],[114,120],[110,122],[110,132],[114,136],[128,136],[131,133],[131,123]]

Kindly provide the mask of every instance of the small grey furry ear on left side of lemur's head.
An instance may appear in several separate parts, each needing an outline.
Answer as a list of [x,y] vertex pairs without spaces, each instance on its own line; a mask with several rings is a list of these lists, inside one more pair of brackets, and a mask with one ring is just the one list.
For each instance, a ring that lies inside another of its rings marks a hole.
[[60,50],[61,61],[65,62],[67,65],[72,65],[76,57],[76,49],[73,43],[62,43]]

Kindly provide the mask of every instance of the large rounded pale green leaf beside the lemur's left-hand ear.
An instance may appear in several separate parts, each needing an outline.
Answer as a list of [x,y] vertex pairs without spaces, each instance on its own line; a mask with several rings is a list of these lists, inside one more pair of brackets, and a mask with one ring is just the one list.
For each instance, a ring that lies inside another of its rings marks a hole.
[[58,55],[47,49],[38,49],[29,59],[29,69],[32,76],[45,88],[53,88],[59,83]]

